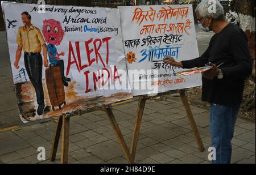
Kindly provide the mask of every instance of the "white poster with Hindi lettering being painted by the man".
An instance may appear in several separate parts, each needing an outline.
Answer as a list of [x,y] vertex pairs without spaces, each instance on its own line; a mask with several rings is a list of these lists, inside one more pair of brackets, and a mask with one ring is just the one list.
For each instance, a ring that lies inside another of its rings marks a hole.
[[192,5],[118,7],[133,96],[201,86],[201,75],[164,63],[199,57]]

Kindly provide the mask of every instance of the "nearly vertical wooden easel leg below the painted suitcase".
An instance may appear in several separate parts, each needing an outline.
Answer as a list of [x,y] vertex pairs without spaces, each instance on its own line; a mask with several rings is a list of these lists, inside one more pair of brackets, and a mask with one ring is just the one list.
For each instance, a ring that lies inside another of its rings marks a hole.
[[61,164],[68,163],[68,141],[69,141],[69,117],[63,116],[62,133],[61,133]]

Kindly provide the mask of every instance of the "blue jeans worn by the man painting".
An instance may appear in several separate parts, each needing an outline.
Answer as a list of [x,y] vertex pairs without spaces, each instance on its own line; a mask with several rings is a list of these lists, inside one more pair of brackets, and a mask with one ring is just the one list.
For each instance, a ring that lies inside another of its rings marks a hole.
[[232,154],[231,140],[240,105],[222,106],[210,104],[210,134],[212,147],[216,148],[216,160],[212,164],[229,164]]

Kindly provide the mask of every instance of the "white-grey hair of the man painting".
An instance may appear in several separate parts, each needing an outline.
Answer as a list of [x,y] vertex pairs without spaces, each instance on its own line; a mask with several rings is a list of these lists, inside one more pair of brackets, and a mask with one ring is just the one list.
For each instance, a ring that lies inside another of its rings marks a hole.
[[225,19],[224,8],[218,0],[204,0],[197,5],[195,11],[199,13],[201,18],[210,15],[213,19]]

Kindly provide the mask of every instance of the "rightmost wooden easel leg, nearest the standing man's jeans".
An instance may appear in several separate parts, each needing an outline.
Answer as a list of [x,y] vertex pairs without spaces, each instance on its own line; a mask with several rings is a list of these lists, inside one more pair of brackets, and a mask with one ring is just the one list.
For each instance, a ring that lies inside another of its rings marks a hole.
[[179,91],[180,93],[180,98],[181,98],[181,101],[185,107],[185,110],[186,110],[186,113],[188,115],[188,119],[189,119],[189,123],[191,125],[191,129],[195,135],[195,138],[196,138],[196,143],[197,143],[197,146],[199,147],[199,150],[200,151],[204,151],[204,144],[201,140],[201,137],[200,137],[200,134],[197,130],[197,126],[196,126],[196,122],[195,122],[195,119],[193,118],[193,114],[191,112],[191,109],[189,107],[189,104],[188,104],[188,100],[187,100],[187,96],[185,95],[185,91]]

